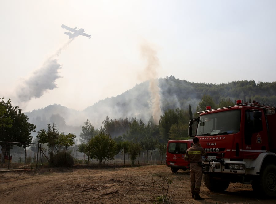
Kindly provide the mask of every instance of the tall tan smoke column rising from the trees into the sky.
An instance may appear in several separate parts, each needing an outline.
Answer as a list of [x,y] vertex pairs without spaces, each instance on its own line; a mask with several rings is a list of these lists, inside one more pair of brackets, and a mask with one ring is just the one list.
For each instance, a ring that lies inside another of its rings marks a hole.
[[151,109],[154,124],[159,123],[161,116],[161,101],[160,101],[160,88],[158,86],[157,69],[159,68],[159,59],[156,56],[157,51],[154,46],[146,41],[141,46],[142,56],[147,60],[147,65],[144,70],[145,80],[149,80],[149,91],[151,93]]

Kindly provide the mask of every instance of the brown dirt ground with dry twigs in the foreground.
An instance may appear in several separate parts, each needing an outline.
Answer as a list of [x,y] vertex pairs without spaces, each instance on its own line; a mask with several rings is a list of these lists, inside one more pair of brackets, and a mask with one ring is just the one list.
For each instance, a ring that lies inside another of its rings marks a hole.
[[154,203],[167,191],[170,203],[276,203],[257,198],[251,185],[235,183],[224,193],[210,192],[202,183],[204,200],[194,200],[189,176],[166,165],[1,171],[0,203]]

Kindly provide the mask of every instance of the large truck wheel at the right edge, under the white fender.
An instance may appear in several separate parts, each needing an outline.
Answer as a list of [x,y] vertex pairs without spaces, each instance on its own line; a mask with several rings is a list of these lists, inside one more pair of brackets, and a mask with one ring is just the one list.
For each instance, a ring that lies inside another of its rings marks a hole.
[[261,171],[259,181],[259,189],[262,191],[264,195],[268,197],[276,197],[276,165],[267,165]]

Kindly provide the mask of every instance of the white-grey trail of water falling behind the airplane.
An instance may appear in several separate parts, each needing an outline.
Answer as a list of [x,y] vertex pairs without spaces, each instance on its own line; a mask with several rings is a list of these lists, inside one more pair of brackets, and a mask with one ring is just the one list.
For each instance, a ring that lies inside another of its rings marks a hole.
[[57,62],[57,57],[62,50],[67,48],[69,43],[74,38],[69,39],[67,43],[59,48],[52,57],[48,58],[40,69],[33,72],[32,76],[24,80],[22,84],[17,87],[17,97],[21,102],[28,102],[32,98],[40,98],[45,91],[57,88],[56,79],[61,78],[58,70],[61,65]]

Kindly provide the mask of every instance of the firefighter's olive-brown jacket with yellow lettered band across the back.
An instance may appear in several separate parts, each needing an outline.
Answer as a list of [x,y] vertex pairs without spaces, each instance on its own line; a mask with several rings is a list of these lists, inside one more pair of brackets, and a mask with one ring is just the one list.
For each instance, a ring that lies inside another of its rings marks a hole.
[[206,154],[206,151],[202,147],[194,144],[186,151],[184,159],[191,162],[190,166],[196,166],[198,163],[202,163],[202,156],[205,156]]

